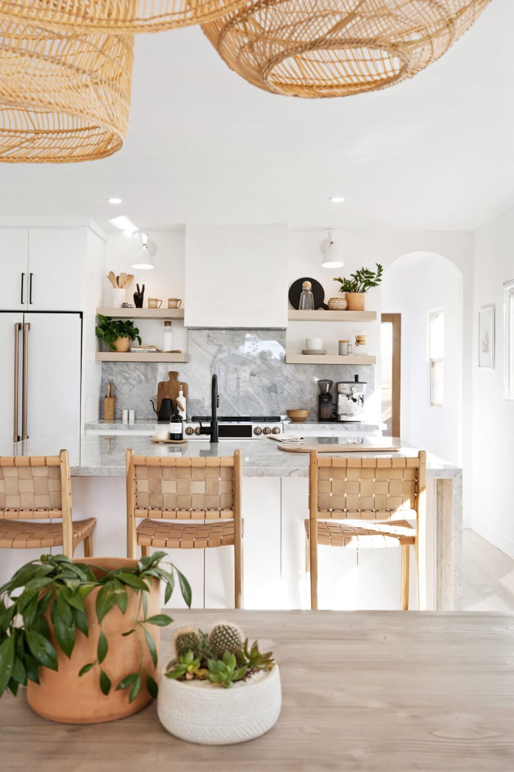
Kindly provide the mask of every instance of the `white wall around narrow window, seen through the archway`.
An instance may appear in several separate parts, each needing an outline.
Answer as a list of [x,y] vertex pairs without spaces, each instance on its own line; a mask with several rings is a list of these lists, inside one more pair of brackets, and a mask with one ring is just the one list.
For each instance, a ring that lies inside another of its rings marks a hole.
[[[429,313],[445,313],[443,407],[430,406]],[[462,273],[418,252],[385,270],[382,311],[401,313],[401,436],[446,461],[462,463]]]

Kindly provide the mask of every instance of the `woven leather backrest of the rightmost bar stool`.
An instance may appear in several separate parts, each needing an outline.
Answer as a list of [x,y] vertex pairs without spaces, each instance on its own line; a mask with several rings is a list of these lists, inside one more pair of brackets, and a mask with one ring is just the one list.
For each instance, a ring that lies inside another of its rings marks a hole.
[[415,520],[418,456],[317,459],[317,511],[334,520]]

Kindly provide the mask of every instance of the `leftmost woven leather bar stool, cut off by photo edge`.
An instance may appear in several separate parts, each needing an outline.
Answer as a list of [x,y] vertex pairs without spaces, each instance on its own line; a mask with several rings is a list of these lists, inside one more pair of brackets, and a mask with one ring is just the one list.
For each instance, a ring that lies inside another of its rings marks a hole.
[[72,520],[67,450],[59,455],[0,456],[0,547],[62,547],[63,554],[73,557],[83,541],[85,557],[92,557],[95,526],[95,517]]

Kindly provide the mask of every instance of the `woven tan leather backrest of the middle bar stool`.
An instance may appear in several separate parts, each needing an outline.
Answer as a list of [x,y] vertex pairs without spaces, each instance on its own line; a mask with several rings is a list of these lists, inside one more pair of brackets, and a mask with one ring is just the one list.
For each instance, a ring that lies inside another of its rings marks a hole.
[[134,455],[136,517],[233,518],[233,456],[200,459]]

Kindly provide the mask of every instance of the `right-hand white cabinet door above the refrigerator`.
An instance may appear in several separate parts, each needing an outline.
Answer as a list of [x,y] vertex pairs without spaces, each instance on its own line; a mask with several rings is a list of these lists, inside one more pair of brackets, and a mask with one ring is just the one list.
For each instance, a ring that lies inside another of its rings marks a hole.
[[82,229],[29,231],[29,310],[82,309]]

